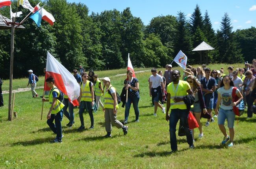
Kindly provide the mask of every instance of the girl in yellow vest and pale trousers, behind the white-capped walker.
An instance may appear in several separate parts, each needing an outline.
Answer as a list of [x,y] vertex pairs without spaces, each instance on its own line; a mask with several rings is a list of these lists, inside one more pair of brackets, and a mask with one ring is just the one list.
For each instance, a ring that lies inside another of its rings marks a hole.
[[103,93],[103,89],[102,89],[102,83],[101,81],[98,79],[98,75],[97,74],[94,74],[93,75],[93,79],[94,79],[94,94],[96,96],[96,106],[99,108],[99,105],[100,107],[104,108],[103,104],[101,103],[100,101],[100,97],[102,96],[102,93]]

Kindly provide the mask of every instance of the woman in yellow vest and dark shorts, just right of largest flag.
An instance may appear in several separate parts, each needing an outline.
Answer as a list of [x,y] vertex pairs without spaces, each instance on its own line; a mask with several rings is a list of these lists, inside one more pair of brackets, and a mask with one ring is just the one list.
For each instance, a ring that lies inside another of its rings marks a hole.
[[[88,74],[82,73],[83,82],[80,88],[80,96],[78,98],[79,105],[79,118],[81,121],[81,126],[78,128],[78,131],[82,131],[85,129],[83,123],[83,112],[86,110],[89,112],[89,116],[91,119],[91,127],[89,129],[94,128],[94,118],[93,118],[93,107],[94,107],[94,92],[93,92],[93,83],[88,81]],[[81,102],[80,102],[81,101]]]

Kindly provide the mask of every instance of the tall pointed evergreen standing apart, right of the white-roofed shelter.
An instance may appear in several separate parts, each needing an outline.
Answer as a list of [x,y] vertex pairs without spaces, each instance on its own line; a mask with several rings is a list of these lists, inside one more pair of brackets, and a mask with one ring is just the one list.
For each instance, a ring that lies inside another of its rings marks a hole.
[[222,17],[221,29],[217,31],[219,62],[241,63],[244,60],[241,49],[239,49],[236,39],[234,38],[232,28],[231,19],[228,13],[225,13],[224,17]]

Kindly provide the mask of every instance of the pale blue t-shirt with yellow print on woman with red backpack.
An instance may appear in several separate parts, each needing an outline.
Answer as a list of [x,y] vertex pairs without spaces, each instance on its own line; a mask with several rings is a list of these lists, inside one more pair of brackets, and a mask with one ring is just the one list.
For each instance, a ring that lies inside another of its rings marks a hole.
[[[221,95],[221,108],[224,110],[232,110],[233,99],[232,99],[232,91],[233,86],[230,89],[226,90],[224,87],[221,87],[217,90],[217,92]],[[236,94],[239,93],[239,90],[236,89]]]

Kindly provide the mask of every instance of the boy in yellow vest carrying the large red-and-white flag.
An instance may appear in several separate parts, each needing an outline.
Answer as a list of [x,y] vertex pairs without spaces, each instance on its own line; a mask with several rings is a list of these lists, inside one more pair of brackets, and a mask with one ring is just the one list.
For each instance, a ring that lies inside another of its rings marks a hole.
[[[64,104],[61,103],[57,98],[60,95],[59,89],[54,86],[54,78],[48,77],[46,79],[46,85],[51,88],[49,94],[49,100],[42,98],[42,101],[49,101],[50,103],[50,110],[47,114],[47,124],[49,125],[50,129],[57,134],[56,138],[51,141],[52,143],[61,143],[62,142],[62,128],[61,128],[61,120],[63,117],[63,110]],[[53,123],[55,121],[55,124]]]

